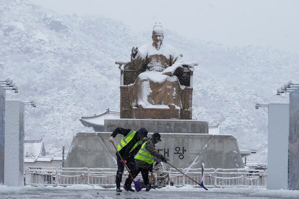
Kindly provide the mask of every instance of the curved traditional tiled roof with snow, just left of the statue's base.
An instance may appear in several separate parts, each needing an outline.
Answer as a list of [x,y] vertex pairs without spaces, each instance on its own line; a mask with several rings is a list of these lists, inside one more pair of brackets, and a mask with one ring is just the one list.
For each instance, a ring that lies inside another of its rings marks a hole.
[[107,111],[102,112],[100,114],[90,115],[90,116],[82,116],[79,119],[84,126],[87,127],[94,127],[94,126],[104,126],[104,119],[119,119],[120,112],[110,110],[109,108]]

